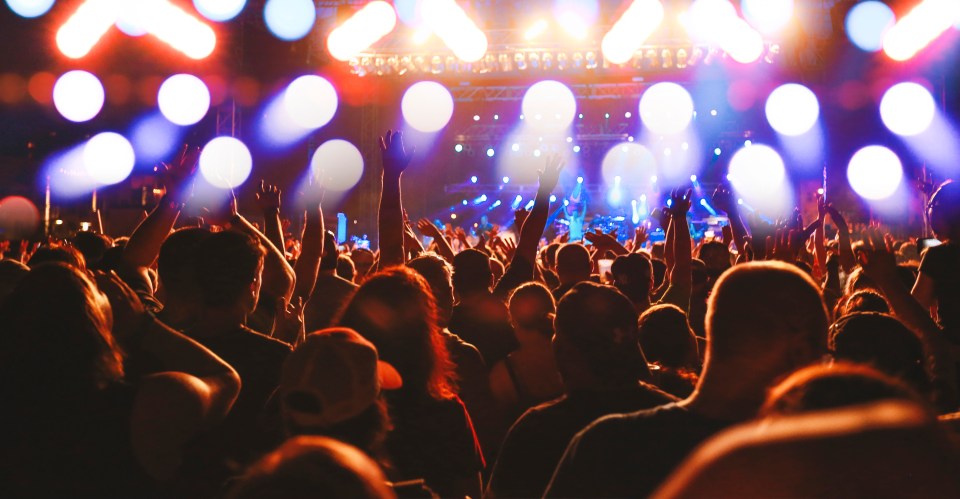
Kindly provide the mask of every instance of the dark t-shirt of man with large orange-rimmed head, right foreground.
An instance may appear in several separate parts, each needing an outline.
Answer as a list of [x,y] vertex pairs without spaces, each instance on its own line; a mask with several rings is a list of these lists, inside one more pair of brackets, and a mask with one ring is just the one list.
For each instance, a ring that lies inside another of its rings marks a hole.
[[646,497],[690,452],[731,423],[677,405],[598,419],[573,437],[546,497]]

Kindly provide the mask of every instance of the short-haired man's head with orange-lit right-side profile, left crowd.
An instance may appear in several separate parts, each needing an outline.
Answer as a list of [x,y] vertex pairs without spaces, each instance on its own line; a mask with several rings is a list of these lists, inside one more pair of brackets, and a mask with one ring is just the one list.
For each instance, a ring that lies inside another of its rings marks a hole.
[[250,313],[260,299],[263,247],[237,231],[210,234],[197,248],[200,302],[208,310]]

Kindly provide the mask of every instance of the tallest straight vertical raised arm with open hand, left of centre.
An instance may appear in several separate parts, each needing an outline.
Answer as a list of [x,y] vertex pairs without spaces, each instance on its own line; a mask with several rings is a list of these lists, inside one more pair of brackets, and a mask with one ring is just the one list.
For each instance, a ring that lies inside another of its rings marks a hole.
[[403,148],[403,133],[387,131],[380,137],[383,158],[383,187],[380,190],[380,211],[377,231],[380,237],[380,267],[403,265],[403,201],[400,198],[400,177],[413,159]]

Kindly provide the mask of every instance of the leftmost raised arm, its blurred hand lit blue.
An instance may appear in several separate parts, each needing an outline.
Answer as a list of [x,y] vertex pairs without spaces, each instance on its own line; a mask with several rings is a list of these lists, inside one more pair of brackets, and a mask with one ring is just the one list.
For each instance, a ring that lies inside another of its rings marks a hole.
[[196,171],[200,149],[184,147],[180,156],[171,164],[161,165],[166,194],[130,235],[123,248],[121,263],[127,269],[150,267],[160,254],[160,246],[177,223],[180,209],[189,197],[189,183]]

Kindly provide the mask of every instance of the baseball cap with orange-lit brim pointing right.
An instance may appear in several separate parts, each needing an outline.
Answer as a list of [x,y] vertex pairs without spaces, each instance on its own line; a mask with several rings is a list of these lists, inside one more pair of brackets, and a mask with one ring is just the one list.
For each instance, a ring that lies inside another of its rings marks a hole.
[[281,408],[299,426],[332,426],[365,411],[380,390],[403,386],[372,343],[348,328],[307,335],[280,375]]

